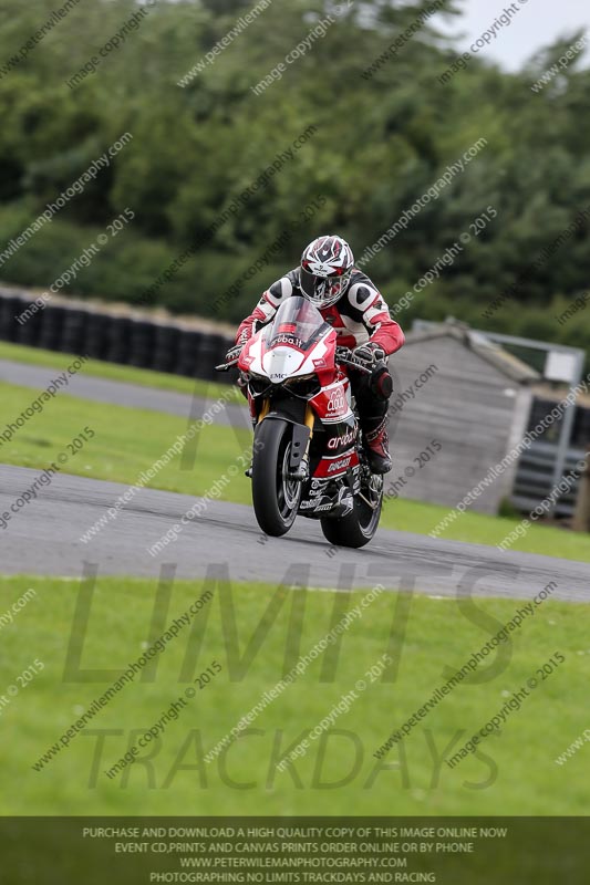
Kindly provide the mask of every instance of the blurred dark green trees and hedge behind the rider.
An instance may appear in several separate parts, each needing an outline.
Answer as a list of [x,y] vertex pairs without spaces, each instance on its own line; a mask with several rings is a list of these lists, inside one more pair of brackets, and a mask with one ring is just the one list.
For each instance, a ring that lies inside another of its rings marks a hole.
[[[527,268],[577,214],[590,209],[590,73],[582,55],[535,93],[531,84],[577,39],[560,40],[517,74],[480,56],[451,82],[458,50],[442,40],[448,0],[372,75],[362,76],[429,2],[275,0],[184,87],[178,82],[255,0],[159,0],[118,50],[100,49],[142,9],[134,0],[80,0],[27,58],[6,70],[50,19],[53,0],[0,0],[0,252],[123,133],[133,140],[12,258],[7,282],[48,288],[126,207],[134,221],[64,291],[156,303],[235,322],[302,246],[322,231],[356,252],[374,243],[477,139],[487,146],[364,266],[394,304],[494,206],[498,217],[398,314],[452,314],[475,326],[587,346],[590,308],[558,322],[590,285],[589,225],[541,266]],[[280,81],[252,92],[320,20],[334,22]],[[456,20],[457,23],[460,19]],[[94,73],[71,80],[92,56]],[[235,215],[216,220],[317,127],[292,159]],[[322,198],[296,228],[301,209]],[[284,231],[284,244],[273,248]],[[157,278],[200,243],[157,292]],[[265,260],[261,257],[269,252]],[[259,270],[244,279],[256,262]],[[518,275],[515,295],[482,314]],[[230,295],[227,293],[234,287]],[[214,303],[217,299],[217,306]]]

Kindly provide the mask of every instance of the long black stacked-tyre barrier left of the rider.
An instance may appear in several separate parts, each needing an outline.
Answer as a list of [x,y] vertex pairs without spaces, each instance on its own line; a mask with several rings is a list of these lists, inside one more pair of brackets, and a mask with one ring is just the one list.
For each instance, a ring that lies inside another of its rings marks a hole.
[[32,310],[34,295],[0,289],[0,340],[93,360],[152,368],[204,381],[232,383],[215,372],[234,344],[229,335],[182,322],[100,311],[80,302]]

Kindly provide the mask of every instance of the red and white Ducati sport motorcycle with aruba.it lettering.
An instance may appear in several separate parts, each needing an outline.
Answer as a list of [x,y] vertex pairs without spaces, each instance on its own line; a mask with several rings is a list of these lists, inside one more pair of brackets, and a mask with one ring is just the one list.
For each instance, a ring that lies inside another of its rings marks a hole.
[[266,534],[286,534],[296,517],[320,521],[334,545],[361,548],[373,538],[383,504],[383,476],[364,455],[345,367],[370,373],[317,308],[287,299],[255,333],[236,366],[255,429],[252,482],[256,519]]

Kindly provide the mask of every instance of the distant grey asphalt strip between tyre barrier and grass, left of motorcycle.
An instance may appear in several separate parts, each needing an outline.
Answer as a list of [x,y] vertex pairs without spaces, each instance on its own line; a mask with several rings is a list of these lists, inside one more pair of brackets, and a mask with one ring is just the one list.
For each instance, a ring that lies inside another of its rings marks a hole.
[[[73,358],[73,357],[72,357]],[[52,381],[62,375],[58,368],[44,366],[30,366],[24,363],[12,363],[0,360],[0,381],[9,384],[19,384],[21,387],[31,387],[41,393],[46,389]],[[203,384],[203,382],[200,383]],[[229,389],[229,388],[228,388]],[[164,391],[157,387],[144,387],[139,384],[108,381],[85,375],[82,368],[76,375],[68,378],[68,386],[62,385],[58,396],[79,396],[94,403],[110,403],[115,406],[130,406],[145,408],[149,412],[163,412],[167,415],[180,415],[185,418],[198,418],[215,402],[215,397],[206,400],[201,396],[190,396],[175,391]],[[34,397],[32,397],[34,398]],[[18,416],[7,416],[13,420]],[[248,409],[244,406],[221,404],[221,410],[211,413],[214,424],[237,427],[250,427]]]

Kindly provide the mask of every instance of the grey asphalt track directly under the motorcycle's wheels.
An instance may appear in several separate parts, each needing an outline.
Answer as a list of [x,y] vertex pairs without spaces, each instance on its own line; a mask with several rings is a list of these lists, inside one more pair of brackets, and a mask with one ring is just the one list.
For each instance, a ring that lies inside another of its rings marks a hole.
[[[10,511],[38,470],[0,466],[0,513]],[[38,498],[12,512],[0,529],[0,572],[81,577],[99,574],[158,577],[164,564],[178,579],[207,573],[231,581],[309,587],[415,589],[441,596],[479,595],[527,600],[550,581],[552,598],[590,600],[588,563],[500,551],[476,544],[381,530],[362,550],[331,549],[318,523],[298,519],[282,539],[265,539],[251,508],[220,501],[186,525],[178,540],[152,556],[153,545],[197,499],[143,489],[87,543],[80,537],[127,489],[58,473]]]

